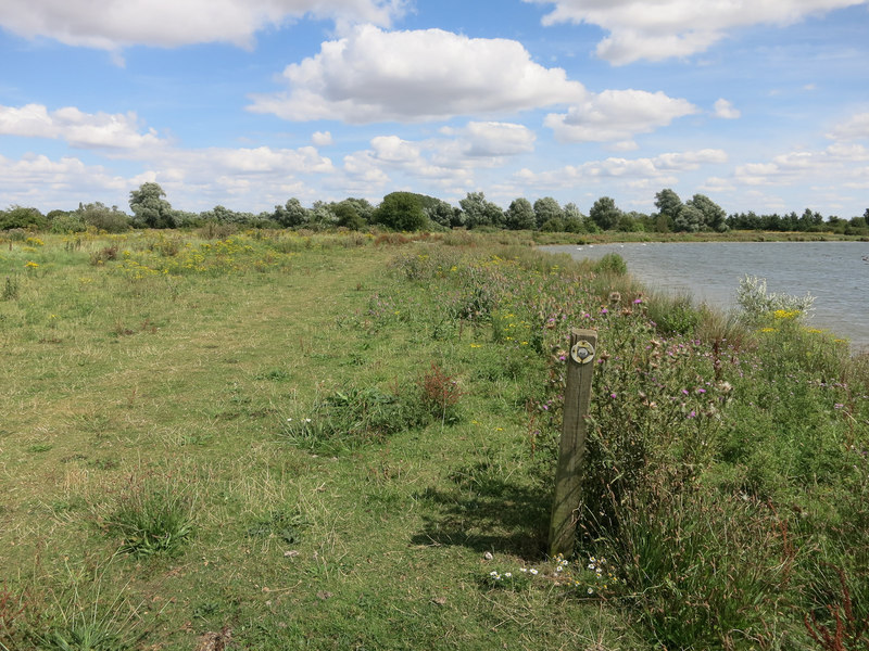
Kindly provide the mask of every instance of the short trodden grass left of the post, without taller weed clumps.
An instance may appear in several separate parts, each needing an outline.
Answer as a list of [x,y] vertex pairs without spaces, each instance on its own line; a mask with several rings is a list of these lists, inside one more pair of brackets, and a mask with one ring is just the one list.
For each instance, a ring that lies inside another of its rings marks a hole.
[[[222,627],[263,650],[635,648],[606,607],[487,586],[543,562],[521,387],[475,370],[474,333],[432,336],[414,314],[430,297],[387,272],[393,251],[138,280],[87,253],[46,254],[0,303],[0,566],[32,609],[58,620],[99,601],[149,649]],[[381,298],[394,319],[373,322]],[[455,425],[333,456],[282,435],[317,397],[406,388],[431,362],[465,390]],[[191,542],[116,554],[101,523],[161,482],[192,501]]]

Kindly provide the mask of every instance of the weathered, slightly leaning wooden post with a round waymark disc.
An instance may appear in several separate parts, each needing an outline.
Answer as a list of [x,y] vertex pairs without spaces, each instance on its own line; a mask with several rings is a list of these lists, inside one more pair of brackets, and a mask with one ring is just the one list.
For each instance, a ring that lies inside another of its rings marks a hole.
[[564,423],[555,471],[555,500],[550,523],[550,557],[574,552],[582,461],[585,457],[585,414],[591,404],[591,380],[597,331],[570,331],[567,359],[567,388],[564,395]]

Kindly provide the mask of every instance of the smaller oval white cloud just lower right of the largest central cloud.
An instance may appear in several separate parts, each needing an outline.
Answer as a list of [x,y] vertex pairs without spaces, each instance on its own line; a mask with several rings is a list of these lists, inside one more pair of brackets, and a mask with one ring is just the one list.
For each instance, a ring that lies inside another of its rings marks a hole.
[[691,102],[660,91],[605,90],[571,106],[566,114],[547,115],[543,124],[562,142],[619,142],[693,113],[697,107]]

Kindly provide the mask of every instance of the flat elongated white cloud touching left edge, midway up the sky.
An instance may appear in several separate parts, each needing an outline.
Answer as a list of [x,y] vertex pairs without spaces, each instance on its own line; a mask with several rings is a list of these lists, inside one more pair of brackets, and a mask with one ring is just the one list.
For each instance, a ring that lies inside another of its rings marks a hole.
[[163,146],[156,131],[139,132],[135,113],[83,113],[73,106],[49,111],[41,104],[20,108],[0,105],[0,133],[65,140],[71,146],[102,150],[142,150]]

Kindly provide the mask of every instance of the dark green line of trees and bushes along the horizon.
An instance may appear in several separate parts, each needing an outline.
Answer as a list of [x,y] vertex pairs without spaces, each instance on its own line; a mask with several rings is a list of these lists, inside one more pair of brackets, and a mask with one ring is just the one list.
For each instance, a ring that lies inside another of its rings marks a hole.
[[79,204],[74,210],[51,210],[43,215],[34,207],[11,206],[0,210],[0,230],[15,228],[79,232],[96,228],[123,232],[133,228],[194,228],[209,224],[244,228],[292,228],[325,230],[370,227],[396,231],[467,229],[537,230],[544,232],[726,232],[728,230],[834,232],[869,235],[869,208],[859,217],[843,219],[809,208],[798,215],[756,215],[753,212],[727,215],[705,194],[682,202],[671,189],[655,194],[657,212],[645,214],[620,209],[614,199],[602,196],[588,215],[575,203],[561,205],[552,196],[533,203],[525,197],[511,202],[506,209],[488,201],[482,192],[469,192],[458,206],[414,192],[392,192],[375,206],[365,199],[314,202],[304,207],[290,199],[274,210],[259,214],[237,212],[222,205],[202,213],[172,207],[166,193],[154,182],[142,183],[129,194],[133,215],[102,203]]

